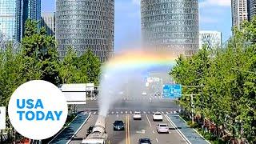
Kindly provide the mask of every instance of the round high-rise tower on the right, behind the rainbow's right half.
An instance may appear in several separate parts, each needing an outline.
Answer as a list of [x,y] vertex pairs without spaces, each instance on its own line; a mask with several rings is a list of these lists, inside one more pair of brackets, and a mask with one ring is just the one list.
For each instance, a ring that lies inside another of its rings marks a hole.
[[198,0],[142,0],[144,47],[191,56],[198,51]]

